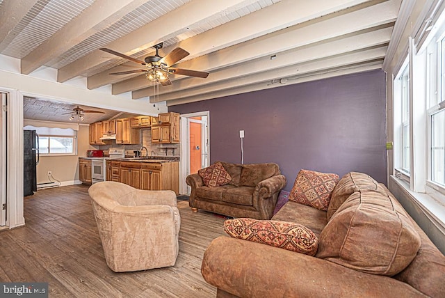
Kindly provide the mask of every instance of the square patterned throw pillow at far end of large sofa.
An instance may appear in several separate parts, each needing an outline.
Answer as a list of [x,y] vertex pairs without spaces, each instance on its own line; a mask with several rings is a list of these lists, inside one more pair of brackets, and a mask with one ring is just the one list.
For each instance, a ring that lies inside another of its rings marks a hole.
[[300,170],[289,194],[289,201],[327,211],[332,191],[339,180],[337,174]]

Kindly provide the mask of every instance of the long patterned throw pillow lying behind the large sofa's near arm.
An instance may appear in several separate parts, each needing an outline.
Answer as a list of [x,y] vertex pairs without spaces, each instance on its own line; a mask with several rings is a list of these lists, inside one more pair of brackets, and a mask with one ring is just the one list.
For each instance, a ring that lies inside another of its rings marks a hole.
[[315,256],[318,249],[318,237],[312,230],[287,221],[228,219],[224,221],[224,230],[234,238],[305,253],[309,256]]

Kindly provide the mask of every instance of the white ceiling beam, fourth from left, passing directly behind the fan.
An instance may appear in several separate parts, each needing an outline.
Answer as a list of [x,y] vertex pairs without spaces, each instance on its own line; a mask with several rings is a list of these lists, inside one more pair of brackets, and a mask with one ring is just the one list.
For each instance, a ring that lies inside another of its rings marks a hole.
[[[232,22],[227,22],[197,36],[183,40],[176,45],[163,49],[163,52],[168,53],[175,47],[182,47],[191,53],[190,56],[182,60],[187,61],[197,56],[229,47],[235,43],[257,38],[267,33],[306,22],[309,19],[316,19],[323,15],[366,2],[369,2],[369,0],[332,0],[328,2],[314,0],[308,5],[307,1],[303,0],[282,0],[244,17],[234,19]],[[295,9],[296,7],[298,7],[298,10]],[[143,59],[144,57],[138,58]],[[135,75],[115,76],[109,75],[109,73],[135,69],[136,66],[135,63],[124,63],[105,72],[92,75],[88,77],[88,88],[99,88],[106,84],[113,84],[135,77]]]

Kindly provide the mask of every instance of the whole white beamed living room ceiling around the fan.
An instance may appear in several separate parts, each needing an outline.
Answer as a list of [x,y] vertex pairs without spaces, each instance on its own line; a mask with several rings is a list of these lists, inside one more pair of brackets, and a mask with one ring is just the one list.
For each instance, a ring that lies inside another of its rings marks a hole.
[[[45,66],[63,83],[87,77],[133,100],[175,105],[382,68],[401,0],[0,0],[0,54],[29,75]],[[159,98],[141,65],[163,42],[190,55],[173,65],[207,79],[170,75]]]

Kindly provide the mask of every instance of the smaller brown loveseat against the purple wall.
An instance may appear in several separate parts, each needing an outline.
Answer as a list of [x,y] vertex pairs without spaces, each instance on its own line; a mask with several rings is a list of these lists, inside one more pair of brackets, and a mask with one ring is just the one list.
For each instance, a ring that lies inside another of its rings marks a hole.
[[232,177],[227,185],[206,187],[200,175],[188,175],[191,186],[188,204],[230,217],[270,219],[280,190],[286,185],[277,164],[230,164],[220,162]]

